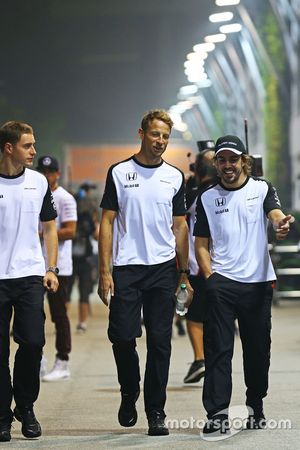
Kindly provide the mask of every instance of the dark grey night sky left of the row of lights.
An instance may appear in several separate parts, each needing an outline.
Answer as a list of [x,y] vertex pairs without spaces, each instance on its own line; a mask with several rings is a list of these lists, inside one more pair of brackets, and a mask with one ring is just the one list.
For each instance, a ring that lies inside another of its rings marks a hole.
[[135,138],[143,113],[176,102],[183,62],[216,32],[213,0],[1,0],[1,123],[45,140]]

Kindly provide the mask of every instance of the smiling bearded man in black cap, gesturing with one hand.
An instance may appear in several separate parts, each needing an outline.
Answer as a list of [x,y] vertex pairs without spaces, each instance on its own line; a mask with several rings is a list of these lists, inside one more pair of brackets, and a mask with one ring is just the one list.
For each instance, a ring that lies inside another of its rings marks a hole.
[[282,240],[293,220],[281,211],[271,183],[250,176],[251,158],[237,136],[217,140],[215,166],[220,182],[199,197],[194,228],[196,257],[207,287],[206,435],[228,431],[236,318],[243,347],[247,428],[266,426],[263,398],[268,389],[272,282],[276,279],[268,252],[267,225],[269,220],[277,239]]

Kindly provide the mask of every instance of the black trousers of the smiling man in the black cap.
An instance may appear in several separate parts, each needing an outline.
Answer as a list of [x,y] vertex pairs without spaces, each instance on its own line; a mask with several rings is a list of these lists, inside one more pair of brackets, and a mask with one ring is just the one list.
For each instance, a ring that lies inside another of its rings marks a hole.
[[236,318],[243,348],[246,404],[260,409],[268,390],[272,284],[240,283],[214,273],[207,280],[206,294],[203,404],[207,416],[229,407]]

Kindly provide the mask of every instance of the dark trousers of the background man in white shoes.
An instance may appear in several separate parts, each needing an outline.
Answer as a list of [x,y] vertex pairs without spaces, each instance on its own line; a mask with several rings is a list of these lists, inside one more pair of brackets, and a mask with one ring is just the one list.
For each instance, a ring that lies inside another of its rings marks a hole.
[[57,292],[48,292],[47,297],[51,320],[55,324],[56,357],[68,361],[71,352],[71,327],[66,305],[70,300],[71,276],[59,276],[58,281]]

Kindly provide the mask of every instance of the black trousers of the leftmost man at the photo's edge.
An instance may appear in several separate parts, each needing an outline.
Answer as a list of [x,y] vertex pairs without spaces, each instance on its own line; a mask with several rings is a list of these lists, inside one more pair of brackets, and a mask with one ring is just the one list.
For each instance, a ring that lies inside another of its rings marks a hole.
[[[19,407],[32,406],[38,397],[45,344],[44,292],[40,276],[0,280],[0,420],[12,418],[13,397]],[[9,331],[13,310],[13,336],[19,347],[11,380]]]

